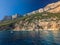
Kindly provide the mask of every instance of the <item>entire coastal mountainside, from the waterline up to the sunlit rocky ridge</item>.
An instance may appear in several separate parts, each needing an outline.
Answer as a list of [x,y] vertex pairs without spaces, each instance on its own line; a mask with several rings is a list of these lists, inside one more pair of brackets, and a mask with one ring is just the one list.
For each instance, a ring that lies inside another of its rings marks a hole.
[[0,30],[60,30],[60,1],[19,18],[4,20],[0,22]]

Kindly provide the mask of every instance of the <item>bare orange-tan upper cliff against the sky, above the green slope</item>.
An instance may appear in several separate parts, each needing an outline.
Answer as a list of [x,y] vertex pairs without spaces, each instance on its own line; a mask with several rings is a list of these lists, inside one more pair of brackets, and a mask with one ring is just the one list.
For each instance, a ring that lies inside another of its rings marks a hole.
[[42,9],[39,9],[39,12],[51,12],[51,13],[60,13],[60,1],[48,4]]

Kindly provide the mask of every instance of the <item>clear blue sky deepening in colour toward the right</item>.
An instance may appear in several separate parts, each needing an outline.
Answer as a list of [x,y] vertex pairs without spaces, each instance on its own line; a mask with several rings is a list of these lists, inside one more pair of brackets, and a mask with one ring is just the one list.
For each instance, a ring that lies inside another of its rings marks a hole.
[[4,16],[26,14],[58,0],[0,0],[0,20]]

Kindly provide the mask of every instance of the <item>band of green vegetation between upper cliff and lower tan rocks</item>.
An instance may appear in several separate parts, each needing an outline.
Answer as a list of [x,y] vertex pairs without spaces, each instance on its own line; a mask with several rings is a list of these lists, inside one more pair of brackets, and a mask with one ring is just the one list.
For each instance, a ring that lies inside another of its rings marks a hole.
[[19,23],[20,21],[25,21],[25,22],[33,22],[35,20],[39,20],[39,19],[50,19],[51,17],[55,18],[57,17],[58,20],[60,20],[60,13],[49,13],[49,12],[43,12],[43,13],[36,13],[36,14],[32,14],[32,15],[26,15],[14,20],[6,20],[0,23],[0,27],[1,26],[8,26],[10,24],[13,23]]

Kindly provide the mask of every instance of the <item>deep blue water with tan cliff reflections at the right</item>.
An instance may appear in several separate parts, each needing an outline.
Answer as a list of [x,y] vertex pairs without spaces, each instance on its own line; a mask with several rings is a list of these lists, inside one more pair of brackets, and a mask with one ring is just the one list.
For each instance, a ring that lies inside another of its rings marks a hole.
[[60,45],[60,31],[0,31],[0,45]]

